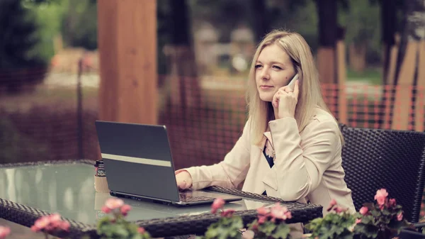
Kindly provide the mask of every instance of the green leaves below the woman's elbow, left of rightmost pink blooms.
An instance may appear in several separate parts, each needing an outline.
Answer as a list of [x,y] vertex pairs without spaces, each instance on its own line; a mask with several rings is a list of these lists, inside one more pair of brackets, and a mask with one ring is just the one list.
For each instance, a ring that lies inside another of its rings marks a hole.
[[353,228],[355,223],[356,215],[344,211],[341,213],[328,213],[323,218],[315,218],[305,228],[312,230],[312,238],[352,239],[353,232],[351,228]]

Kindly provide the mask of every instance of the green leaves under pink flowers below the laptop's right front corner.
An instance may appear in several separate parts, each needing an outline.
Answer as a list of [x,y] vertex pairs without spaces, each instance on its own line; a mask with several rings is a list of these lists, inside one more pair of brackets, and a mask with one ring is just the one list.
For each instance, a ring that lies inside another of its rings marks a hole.
[[216,223],[212,223],[205,235],[198,239],[240,239],[242,233],[239,231],[244,226],[240,216],[222,217]]

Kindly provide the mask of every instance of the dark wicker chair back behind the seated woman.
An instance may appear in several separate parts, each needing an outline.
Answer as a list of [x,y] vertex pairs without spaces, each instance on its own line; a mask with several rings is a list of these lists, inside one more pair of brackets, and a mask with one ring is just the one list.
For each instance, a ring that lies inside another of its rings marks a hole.
[[373,202],[376,191],[385,188],[403,206],[404,218],[416,223],[424,191],[425,133],[340,128],[346,141],[342,166],[356,210]]

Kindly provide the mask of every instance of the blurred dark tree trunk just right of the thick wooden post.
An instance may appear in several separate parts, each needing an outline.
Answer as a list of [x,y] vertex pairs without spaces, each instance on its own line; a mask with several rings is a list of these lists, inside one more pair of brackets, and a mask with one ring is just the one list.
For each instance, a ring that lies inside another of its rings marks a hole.
[[200,84],[196,70],[195,53],[191,38],[191,24],[186,0],[170,0],[171,46],[166,54],[171,64],[171,104],[180,104],[182,111],[188,106],[198,106]]

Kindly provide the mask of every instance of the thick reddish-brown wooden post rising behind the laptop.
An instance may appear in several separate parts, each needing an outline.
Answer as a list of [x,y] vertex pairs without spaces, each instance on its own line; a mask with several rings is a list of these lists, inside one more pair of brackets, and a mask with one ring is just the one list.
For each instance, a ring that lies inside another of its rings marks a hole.
[[99,119],[157,123],[157,1],[98,1]]

